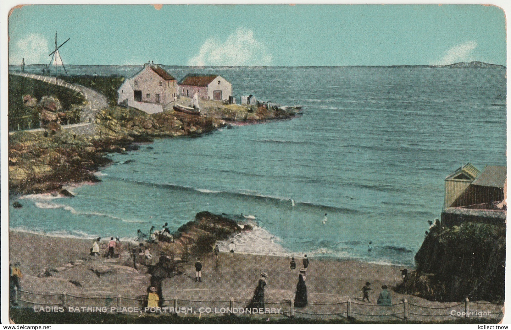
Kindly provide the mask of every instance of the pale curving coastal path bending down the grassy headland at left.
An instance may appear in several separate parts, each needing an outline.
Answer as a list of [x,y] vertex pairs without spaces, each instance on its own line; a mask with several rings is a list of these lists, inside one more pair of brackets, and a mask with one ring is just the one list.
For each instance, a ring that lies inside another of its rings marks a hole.
[[[68,124],[62,125],[62,130],[73,129],[78,134],[87,134],[92,135],[96,132],[96,114],[103,108],[108,106],[108,101],[105,95],[87,88],[78,84],[70,84],[62,79],[56,80],[55,77],[50,77],[49,75],[40,75],[35,73],[27,73],[27,72],[9,72],[9,74],[19,75],[21,77],[36,79],[43,81],[45,83],[62,86],[68,89],[72,89],[80,94],[87,100],[87,106],[82,109],[83,113],[81,115],[81,123],[78,124]],[[33,129],[26,130],[25,132],[38,132],[43,131],[44,129]],[[14,132],[10,132],[9,134],[13,134]]]

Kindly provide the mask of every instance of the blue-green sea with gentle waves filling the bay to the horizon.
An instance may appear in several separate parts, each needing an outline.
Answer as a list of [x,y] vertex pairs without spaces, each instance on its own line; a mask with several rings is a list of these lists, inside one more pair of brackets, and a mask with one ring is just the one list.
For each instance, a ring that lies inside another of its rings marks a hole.
[[[413,266],[445,177],[467,162],[506,165],[503,68],[164,68],[178,80],[218,73],[238,96],[303,115],[111,154],[101,182],[70,187],[74,198],[11,195],[23,205],[10,206],[11,230],[132,239],[210,211],[254,225],[233,238],[241,253]],[[129,78],[141,66],[66,69]]]

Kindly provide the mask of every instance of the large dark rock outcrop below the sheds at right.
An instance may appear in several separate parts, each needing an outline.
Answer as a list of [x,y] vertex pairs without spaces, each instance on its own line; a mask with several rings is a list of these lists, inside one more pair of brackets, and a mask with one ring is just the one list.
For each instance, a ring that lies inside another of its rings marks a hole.
[[415,255],[416,271],[397,291],[437,301],[502,301],[505,235],[505,226],[487,223],[433,227]]

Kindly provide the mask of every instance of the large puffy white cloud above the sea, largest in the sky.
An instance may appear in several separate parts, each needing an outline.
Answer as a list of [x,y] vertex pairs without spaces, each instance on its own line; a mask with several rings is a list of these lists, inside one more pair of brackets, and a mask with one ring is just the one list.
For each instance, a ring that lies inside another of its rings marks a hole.
[[249,29],[238,28],[236,32],[221,42],[216,38],[207,39],[199,53],[188,60],[188,65],[251,65],[261,66],[271,63],[267,47],[253,38]]

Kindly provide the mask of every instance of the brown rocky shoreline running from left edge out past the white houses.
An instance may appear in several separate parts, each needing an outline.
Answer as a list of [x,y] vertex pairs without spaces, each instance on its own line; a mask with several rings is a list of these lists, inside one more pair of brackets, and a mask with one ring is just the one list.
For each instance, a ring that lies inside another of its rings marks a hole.
[[[287,119],[293,112],[273,113],[250,123]],[[267,118],[266,118],[267,117]],[[235,121],[234,123],[237,123]],[[242,121],[246,122],[246,121]],[[207,116],[178,112],[146,114],[119,106],[100,110],[94,134],[71,130],[53,132],[16,132],[9,137],[9,194],[64,193],[66,185],[101,181],[95,175],[111,160],[108,153],[136,150],[137,142],[154,138],[199,137],[230,123]]]

